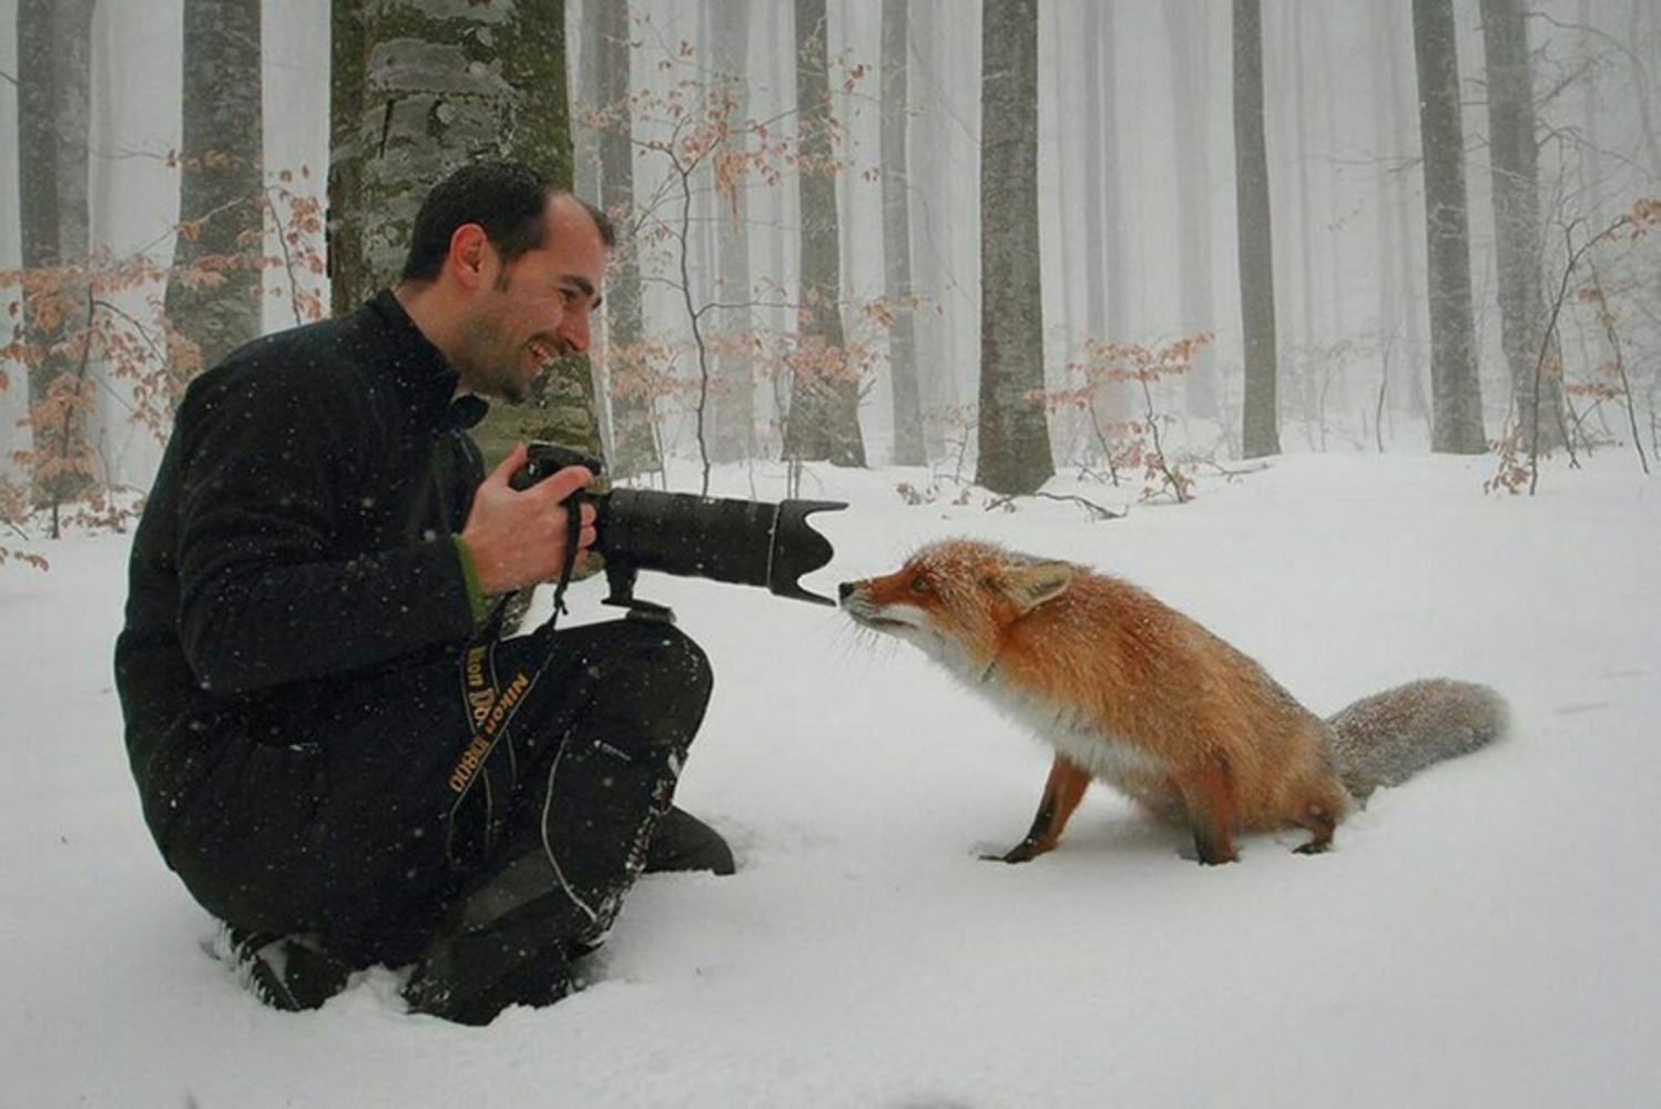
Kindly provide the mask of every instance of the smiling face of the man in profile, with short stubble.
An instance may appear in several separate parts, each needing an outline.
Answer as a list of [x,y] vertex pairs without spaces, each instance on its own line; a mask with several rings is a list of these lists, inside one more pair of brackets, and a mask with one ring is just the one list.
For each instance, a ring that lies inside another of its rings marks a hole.
[[523,400],[551,359],[588,350],[588,314],[600,304],[606,246],[588,211],[570,196],[550,198],[543,246],[502,266],[485,244],[472,310],[453,359],[475,393]]

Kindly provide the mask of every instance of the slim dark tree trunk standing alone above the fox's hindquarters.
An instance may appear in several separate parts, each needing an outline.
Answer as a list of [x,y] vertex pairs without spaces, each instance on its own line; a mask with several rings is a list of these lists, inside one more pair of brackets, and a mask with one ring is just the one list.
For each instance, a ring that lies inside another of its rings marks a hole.
[[1262,131],[1261,0],[1234,0],[1234,198],[1246,344],[1241,448],[1247,458],[1261,458],[1281,453],[1274,229],[1269,222],[1269,151]]

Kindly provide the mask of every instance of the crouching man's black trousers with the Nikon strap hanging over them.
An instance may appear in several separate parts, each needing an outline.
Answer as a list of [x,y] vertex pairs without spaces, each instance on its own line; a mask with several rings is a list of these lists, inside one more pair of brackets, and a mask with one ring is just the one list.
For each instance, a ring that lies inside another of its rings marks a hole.
[[643,621],[387,674],[316,729],[233,737],[193,799],[211,815],[186,822],[169,863],[223,920],[317,933],[359,963],[530,908],[548,918],[538,935],[591,946],[644,865],[711,686],[691,639]]

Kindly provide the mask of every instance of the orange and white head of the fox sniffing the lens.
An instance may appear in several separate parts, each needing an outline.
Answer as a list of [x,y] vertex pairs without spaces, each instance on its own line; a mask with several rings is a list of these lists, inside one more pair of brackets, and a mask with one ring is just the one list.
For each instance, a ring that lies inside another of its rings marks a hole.
[[892,574],[844,581],[842,609],[942,662],[983,669],[1000,633],[1061,596],[1081,568],[975,540],[932,543]]

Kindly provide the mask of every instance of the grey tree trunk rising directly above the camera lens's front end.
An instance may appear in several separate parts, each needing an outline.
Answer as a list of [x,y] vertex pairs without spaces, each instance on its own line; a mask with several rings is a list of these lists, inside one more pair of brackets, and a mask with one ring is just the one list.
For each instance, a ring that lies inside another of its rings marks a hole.
[[826,0],[796,0],[796,103],[801,129],[796,189],[801,206],[801,302],[792,354],[791,412],[784,457],[864,467],[859,433],[859,377],[842,330],[835,211],[835,118]]

